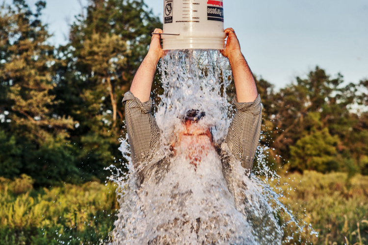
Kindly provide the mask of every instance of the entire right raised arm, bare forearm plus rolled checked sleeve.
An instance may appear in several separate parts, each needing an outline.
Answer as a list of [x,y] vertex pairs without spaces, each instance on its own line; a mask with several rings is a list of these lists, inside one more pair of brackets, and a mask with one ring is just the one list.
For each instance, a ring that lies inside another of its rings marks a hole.
[[258,95],[253,74],[240,51],[239,41],[233,28],[225,30],[228,36],[226,48],[222,51],[229,58],[233,71],[237,96],[232,103],[237,111],[230,124],[225,143],[250,174],[262,124],[262,102]]

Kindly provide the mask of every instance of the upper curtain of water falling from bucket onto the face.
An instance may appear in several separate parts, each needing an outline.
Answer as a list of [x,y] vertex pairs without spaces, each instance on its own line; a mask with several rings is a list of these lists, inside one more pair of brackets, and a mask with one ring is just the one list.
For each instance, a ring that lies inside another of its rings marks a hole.
[[220,143],[229,126],[230,104],[226,88],[232,76],[230,64],[217,50],[169,52],[161,63],[163,95],[156,121],[165,139],[172,141],[185,112],[206,112],[204,125],[210,125],[214,141]]

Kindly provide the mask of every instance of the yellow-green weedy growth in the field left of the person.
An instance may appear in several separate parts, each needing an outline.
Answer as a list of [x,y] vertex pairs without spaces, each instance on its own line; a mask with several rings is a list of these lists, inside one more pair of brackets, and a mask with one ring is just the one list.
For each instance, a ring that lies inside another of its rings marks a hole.
[[71,235],[75,244],[81,237],[89,244],[107,237],[118,209],[113,184],[65,184],[36,192],[31,183],[28,176],[0,179],[0,244],[43,244],[55,237],[69,242]]

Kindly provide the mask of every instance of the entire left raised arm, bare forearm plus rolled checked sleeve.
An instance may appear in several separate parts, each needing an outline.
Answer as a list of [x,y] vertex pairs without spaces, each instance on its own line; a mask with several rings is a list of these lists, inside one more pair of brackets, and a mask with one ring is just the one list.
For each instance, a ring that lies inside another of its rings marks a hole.
[[[155,33],[162,33],[155,29]],[[151,114],[151,87],[158,60],[164,52],[160,44],[160,35],[153,35],[150,49],[138,71],[135,73],[131,90],[125,93],[125,123],[127,125],[131,160],[136,169],[142,163],[151,161],[160,147],[160,130]]]

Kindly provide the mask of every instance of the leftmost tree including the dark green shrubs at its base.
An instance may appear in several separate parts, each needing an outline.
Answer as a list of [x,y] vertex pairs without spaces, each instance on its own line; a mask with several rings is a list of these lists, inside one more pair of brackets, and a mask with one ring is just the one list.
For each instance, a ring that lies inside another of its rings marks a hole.
[[66,145],[71,117],[53,106],[54,47],[39,19],[44,1],[32,12],[24,0],[1,6],[0,15],[0,175],[28,173],[37,183],[62,181],[76,172]]

